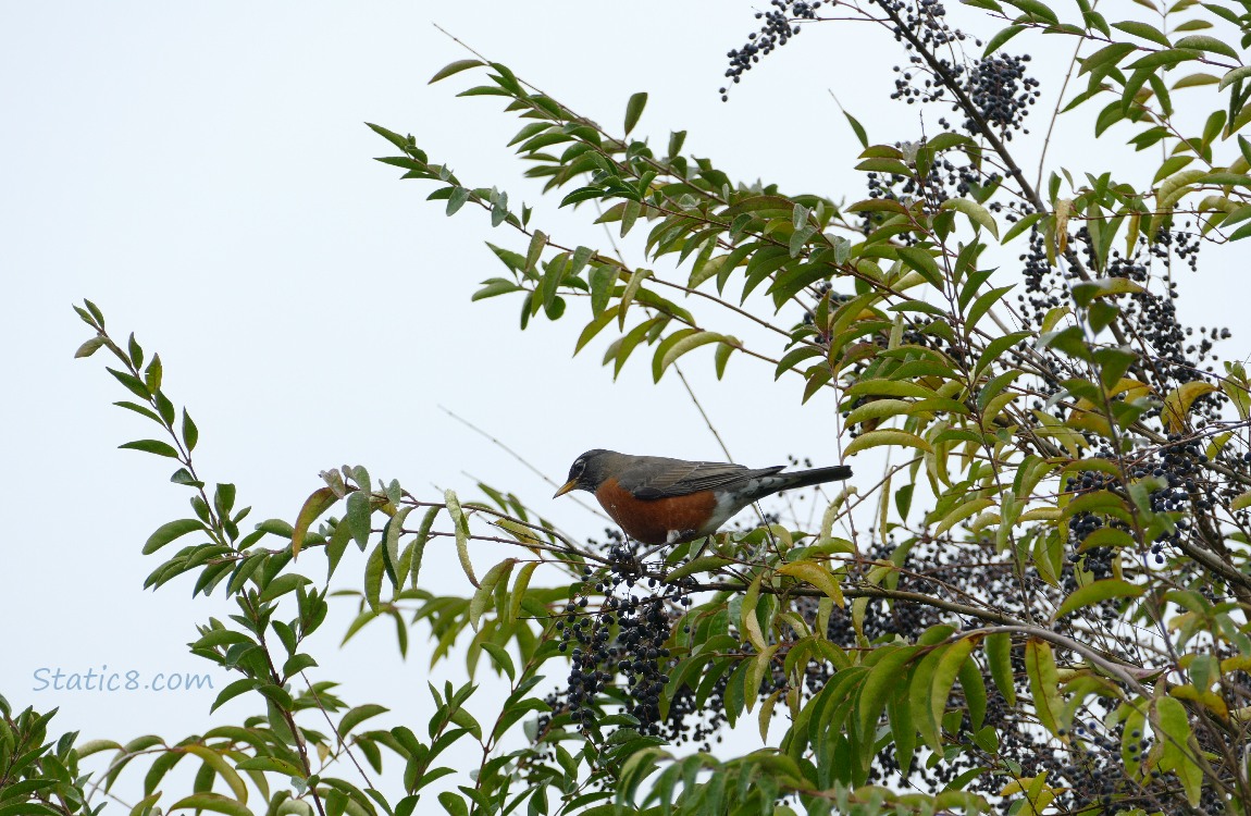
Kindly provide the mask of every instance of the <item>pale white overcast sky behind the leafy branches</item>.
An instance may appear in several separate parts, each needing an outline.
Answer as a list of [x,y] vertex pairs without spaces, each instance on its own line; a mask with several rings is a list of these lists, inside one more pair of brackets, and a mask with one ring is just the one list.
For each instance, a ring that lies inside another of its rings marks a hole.
[[[1137,8],[1120,5],[1126,15]],[[483,242],[517,249],[524,239],[468,208],[445,219],[442,203],[424,201],[433,185],[399,183],[372,160],[393,150],[362,123],[413,131],[464,181],[538,203],[535,224],[558,239],[603,245],[588,217],[555,212],[520,178],[524,165],[504,145],[523,123],[500,114],[499,100],[455,99],[472,74],[425,84],[465,56],[437,21],[609,129],[628,96],[647,90],[638,133],[662,148],[686,128],[687,151],[732,178],[862,198],[849,170],[858,145],[827,89],[872,139],[917,138],[917,110],[886,100],[893,44],[864,25],[811,30],[722,104],[724,53],[754,30],[753,8],[0,3],[0,269],[10,280],[0,302],[0,693],[19,708],[59,706],[58,731],[123,741],[176,738],[255,711],[231,705],[210,718],[213,692],[34,690],[40,667],[204,671],[185,643],[196,622],[225,612],[219,599],[190,601],[186,578],[140,591],[158,563],[140,554],[143,541],[188,512],[188,492],[166,483],[171,468],[155,457],[115,449],[151,433],[109,405],[126,394],[103,357],[71,359],[88,332],[70,304],[84,297],[119,339],[134,330],[149,354],[160,352],[166,393],[200,426],[200,473],[235,482],[251,521],[293,519],[317,473],[347,462],[428,496],[453,487],[473,497],[472,474],[567,529],[602,528],[573,503],[550,502],[549,486],[440,404],[553,478],[592,447],[719,458],[678,380],[651,385],[647,355],[617,384],[599,367],[603,342],[569,357],[583,303],[525,333],[518,299],[470,304],[478,282],[503,272]],[[1040,55],[1035,75],[1053,94],[1072,46],[1046,48],[1021,36],[1008,50]],[[927,114],[931,133],[943,113]],[[1073,156],[1066,164],[1106,163],[1087,123],[1068,126],[1053,148]],[[1197,323],[1237,330],[1245,282],[1212,284],[1217,294],[1188,308],[1203,313]],[[736,358],[717,383],[709,349],[683,368],[738,461],[838,459],[833,400],[801,407],[798,378],[774,387],[771,370]],[[475,556],[479,574],[494,554]],[[428,558],[425,571],[429,586],[464,592],[454,558]],[[348,620],[348,603],[337,603]],[[423,633],[405,663],[389,627],[337,652],[342,631],[332,621],[311,645],[324,676],[343,680],[353,703],[392,706],[378,725],[424,721]]]

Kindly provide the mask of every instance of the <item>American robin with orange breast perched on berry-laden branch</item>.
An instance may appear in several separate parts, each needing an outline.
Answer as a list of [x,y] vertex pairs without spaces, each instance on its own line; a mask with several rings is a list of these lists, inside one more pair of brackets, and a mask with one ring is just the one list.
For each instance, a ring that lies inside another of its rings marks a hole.
[[663,546],[711,536],[738,511],[772,493],[852,474],[844,464],[781,473],[784,467],[587,451],[573,461],[569,481],[552,498],[570,491],[594,493],[631,538]]

